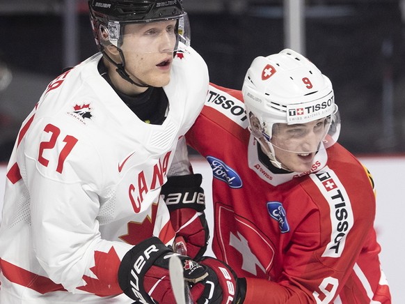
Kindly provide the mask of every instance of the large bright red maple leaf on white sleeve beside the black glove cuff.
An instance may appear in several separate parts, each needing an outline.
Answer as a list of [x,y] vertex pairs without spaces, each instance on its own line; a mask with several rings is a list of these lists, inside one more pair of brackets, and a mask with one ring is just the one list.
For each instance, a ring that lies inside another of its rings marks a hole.
[[112,296],[122,294],[118,284],[118,268],[120,267],[120,258],[116,250],[111,246],[109,252],[95,251],[95,266],[90,271],[97,278],[90,278],[88,275],[83,276],[86,285],[77,287],[77,289],[87,291],[96,296]]

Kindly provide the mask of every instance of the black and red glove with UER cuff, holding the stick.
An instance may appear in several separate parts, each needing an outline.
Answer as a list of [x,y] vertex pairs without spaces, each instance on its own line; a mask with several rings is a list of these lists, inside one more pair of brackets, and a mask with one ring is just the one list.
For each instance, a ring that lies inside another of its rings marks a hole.
[[[125,254],[118,270],[122,291],[136,303],[175,303],[168,271],[173,254],[157,237],[148,238],[134,246]],[[207,276],[206,266],[184,255],[179,257],[184,268],[184,280],[196,283]],[[201,287],[195,290],[200,294]]]

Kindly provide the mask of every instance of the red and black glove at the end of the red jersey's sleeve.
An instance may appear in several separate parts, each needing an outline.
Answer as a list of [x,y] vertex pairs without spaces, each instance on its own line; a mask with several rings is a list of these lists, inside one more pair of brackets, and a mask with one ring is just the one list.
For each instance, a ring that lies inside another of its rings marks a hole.
[[193,300],[198,304],[221,303],[239,304],[246,296],[246,280],[237,275],[227,264],[213,257],[202,257],[199,264],[207,266],[208,276],[205,280],[193,285],[193,289],[204,286],[200,295],[193,293]]

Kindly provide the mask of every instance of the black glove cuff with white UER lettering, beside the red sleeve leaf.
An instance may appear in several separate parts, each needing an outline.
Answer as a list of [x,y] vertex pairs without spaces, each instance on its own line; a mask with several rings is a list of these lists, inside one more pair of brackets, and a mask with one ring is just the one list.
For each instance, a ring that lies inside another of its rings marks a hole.
[[118,283],[122,291],[136,301],[153,303],[143,289],[143,278],[154,261],[169,252],[170,248],[157,237],[148,238],[129,250],[118,269]]

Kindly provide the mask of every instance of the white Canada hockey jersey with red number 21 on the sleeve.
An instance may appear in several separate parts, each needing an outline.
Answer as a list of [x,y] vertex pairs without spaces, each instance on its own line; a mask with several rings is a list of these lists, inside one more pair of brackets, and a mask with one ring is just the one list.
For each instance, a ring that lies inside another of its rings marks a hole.
[[174,231],[159,199],[195,121],[207,66],[177,53],[162,125],[139,120],[97,71],[101,54],[49,84],[19,131],[0,227],[0,303],[132,303],[118,266],[139,241]]

